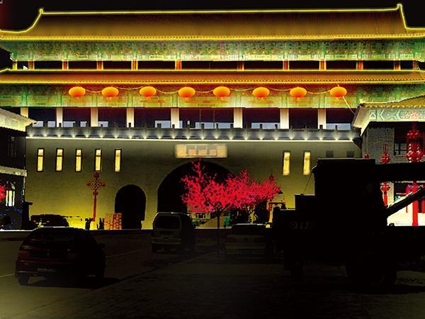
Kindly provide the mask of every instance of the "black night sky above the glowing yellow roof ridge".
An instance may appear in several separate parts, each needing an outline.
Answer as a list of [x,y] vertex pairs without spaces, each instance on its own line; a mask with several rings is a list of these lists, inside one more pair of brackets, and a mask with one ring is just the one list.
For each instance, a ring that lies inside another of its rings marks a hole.
[[[1,1],[1,0],[0,0]],[[358,1],[288,1],[288,0],[2,0],[0,4],[0,28],[22,30],[30,26],[39,8],[45,11],[94,11],[94,10],[176,10],[176,9],[314,9],[314,8],[391,8],[401,2],[409,26],[424,26],[421,1],[358,0]],[[8,55],[0,52],[0,68],[9,62]]]

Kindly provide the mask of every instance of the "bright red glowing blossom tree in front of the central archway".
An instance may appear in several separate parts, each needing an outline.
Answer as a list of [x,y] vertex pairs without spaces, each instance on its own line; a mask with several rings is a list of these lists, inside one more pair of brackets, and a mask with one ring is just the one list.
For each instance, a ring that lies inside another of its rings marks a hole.
[[220,245],[220,216],[224,211],[242,209],[251,211],[263,202],[271,200],[280,191],[276,179],[271,176],[257,183],[248,172],[229,174],[225,181],[217,181],[217,175],[205,172],[199,162],[193,162],[193,172],[181,179],[186,193],[181,196],[192,213],[215,213],[217,216],[217,249]]

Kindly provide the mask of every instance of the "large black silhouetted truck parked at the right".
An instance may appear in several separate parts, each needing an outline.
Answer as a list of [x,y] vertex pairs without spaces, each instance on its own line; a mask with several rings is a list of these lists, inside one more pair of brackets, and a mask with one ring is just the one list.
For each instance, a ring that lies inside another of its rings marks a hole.
[[273,213],[273,242],[293,278],[302,279],[309,259],[345,265],[357,284],[391,285],[398,270],[423,270],[425,226],[388,225],[387,218],[425,189],[385,206],[380,184],[424,181],[425,162],[318,159],[312,174],[314,194],[295,195],[295,209]]

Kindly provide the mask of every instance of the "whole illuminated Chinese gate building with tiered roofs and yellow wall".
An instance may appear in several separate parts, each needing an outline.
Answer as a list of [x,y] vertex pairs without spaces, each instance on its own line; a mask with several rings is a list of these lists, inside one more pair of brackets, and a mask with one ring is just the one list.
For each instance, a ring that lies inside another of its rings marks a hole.
[[31,212],[79,216],[71,225],[91,216],[86,182],[98,171],[98,216],[151,227],[157,211],[183,209],[177,173],[199,157],[275,175],[277,200],[293,207],[294,194],[313,191],[317,158],[362,157],[367,128],[351,126],[359,104],[425,88],[425,29],[407,28],[400,5],[40,10],[30,28],[0,31],[0,45],[13,60],[0,107],[37,121],[27,138]]

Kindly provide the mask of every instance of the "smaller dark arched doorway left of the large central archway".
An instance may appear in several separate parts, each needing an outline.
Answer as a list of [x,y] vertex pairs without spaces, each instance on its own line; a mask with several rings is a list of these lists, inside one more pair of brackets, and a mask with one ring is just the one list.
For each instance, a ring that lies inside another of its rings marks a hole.
[[145,220],[145,192],[136,185],[121,188],[115,196],[115,213],[122,213],[123,229],[140,229]]

